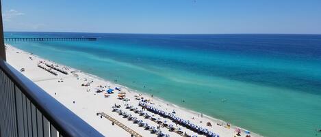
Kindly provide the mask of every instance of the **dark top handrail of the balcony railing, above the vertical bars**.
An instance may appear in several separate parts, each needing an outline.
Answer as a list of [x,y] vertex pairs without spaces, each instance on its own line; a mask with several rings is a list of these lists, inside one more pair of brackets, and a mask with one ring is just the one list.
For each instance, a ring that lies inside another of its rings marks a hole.
[[[14,82],[16,87],[36,106],[62,136],[103,136],[86,121],[75,115],[63,104],[23,76],[14,67],[0,59],[0,69]],[[94,114],[93,114],[94,115]],[[1,136],[1,135],[0,135]]]

